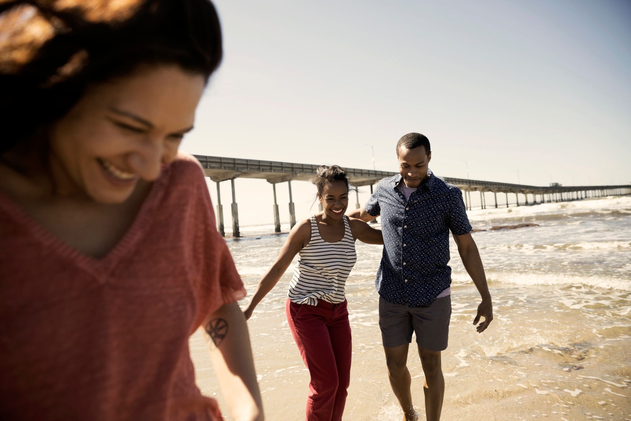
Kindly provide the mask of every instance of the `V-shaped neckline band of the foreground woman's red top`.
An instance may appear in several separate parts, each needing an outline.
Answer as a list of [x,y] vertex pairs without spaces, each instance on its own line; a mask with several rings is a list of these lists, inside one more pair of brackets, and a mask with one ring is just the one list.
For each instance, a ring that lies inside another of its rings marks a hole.
[[20,227],[25,228],[32,236],[32,239],[43,246],[46,251],[54,252],[60,258],[76,264],[81,269],[90,273],[100,284],[105,284],[109,275],[119,263],[120,259],[127,254],[138,243],[148,225],[151,213],[160,202],[164,193],[164,186],[168,180],[168,165],[162,170],[160,177],[153,182],[149,193],[144,198],[134,220],[127,228],[125,234],[102,258],[95,258],[81,252],[68,243],[56,237],[40,222],[27,213],[13,198],[0,190],[0,209],[13,218]]

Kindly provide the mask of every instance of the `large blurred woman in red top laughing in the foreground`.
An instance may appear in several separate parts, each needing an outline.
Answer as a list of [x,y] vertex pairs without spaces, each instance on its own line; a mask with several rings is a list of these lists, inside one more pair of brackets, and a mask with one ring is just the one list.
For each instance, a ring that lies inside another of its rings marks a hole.
[[261,420],[243,284],[179,154],[221,59],[206,0],[0,3],[0,419]]

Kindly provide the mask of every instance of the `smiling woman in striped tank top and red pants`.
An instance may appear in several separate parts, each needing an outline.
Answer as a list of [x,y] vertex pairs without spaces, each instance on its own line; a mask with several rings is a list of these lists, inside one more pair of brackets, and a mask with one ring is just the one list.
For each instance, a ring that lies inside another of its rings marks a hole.
[[380,230],[344,215],[348,179],[337,165],[322,165],[312,179],[324,210],[293,227],[278,258],[263,275],[245,318],[274,288],[292,259],[298,263],[289,284],[286,314],[293,339],[309,369],[307,421],[341,420],[350,382],[351,329],[345,282],[357,260],[355,240],[383,244]]

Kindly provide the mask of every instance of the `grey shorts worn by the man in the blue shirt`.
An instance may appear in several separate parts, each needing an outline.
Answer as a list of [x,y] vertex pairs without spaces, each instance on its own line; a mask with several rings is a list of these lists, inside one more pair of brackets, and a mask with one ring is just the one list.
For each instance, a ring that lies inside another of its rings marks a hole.
[[428,351],[445,350],[450,318],[451,295],[437,298],[422,307],[392,304],[379,297],[379,328],[386,348],[410,343],[412,332],[415,332],[419,347]]

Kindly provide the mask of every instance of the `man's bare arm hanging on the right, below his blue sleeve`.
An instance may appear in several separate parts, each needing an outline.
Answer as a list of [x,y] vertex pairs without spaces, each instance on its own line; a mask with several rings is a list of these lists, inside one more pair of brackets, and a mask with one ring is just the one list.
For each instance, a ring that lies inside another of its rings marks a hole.
[[487,275],[484,273],[484,266],[482,266],[482,259],[480,259],[480,252],[478,252],[478,246],[476,246],[471,233],[464,235],[454,235],[454,240],[458,246],[458,252],[460,258],[463,259],[464,268],[469,276],[475,283],[482,302],[478,305],[478,314],[476,314],[473,324],[480,321],[480,317],[484,317],[483,323],[480,323],[476,328],[478,333],[485,331],[488,325],[493,320],[493,303],[491,300],[491,294],[488,292]]

